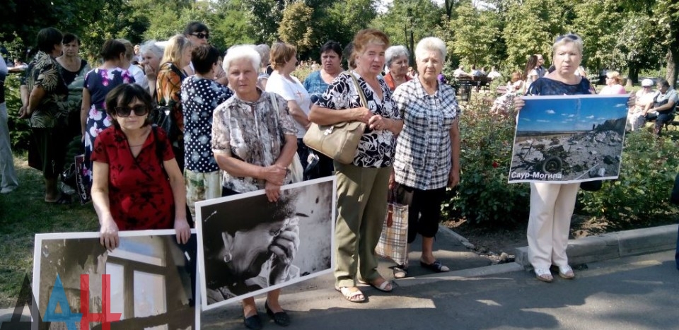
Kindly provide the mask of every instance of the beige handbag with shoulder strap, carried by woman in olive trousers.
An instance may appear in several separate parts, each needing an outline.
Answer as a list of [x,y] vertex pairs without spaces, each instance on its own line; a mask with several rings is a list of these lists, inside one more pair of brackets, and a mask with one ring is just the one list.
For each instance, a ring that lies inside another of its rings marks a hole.
[[[354,86],[359,92],[361,98],[361,106],[367,107],[366,95],[364,95],[359,82],[353,73],[348,72],[352,76]],[[366,131],[366,123],[364,122],[340,122],[332,125],[319,125],[311,123],[311,126],[304,134],[302,141],[309,147],[323,155],[337,160],[342,164],[351,164],[354,162],[354,155],[356,149],[359,148],[361,136]]]

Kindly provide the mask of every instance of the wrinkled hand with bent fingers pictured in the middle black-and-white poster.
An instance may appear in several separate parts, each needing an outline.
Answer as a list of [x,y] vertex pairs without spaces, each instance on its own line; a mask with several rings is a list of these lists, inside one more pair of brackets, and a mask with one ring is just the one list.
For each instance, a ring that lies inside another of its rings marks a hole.
[[299,219],[295,217],[291,218],[289,223],[281,229],[281,233],[274,238],[274,242],[269,247],[269,251],[274,256],[269,273],[269,283],[278,284],[288,279],[290,265],[295,259],[298,248]]

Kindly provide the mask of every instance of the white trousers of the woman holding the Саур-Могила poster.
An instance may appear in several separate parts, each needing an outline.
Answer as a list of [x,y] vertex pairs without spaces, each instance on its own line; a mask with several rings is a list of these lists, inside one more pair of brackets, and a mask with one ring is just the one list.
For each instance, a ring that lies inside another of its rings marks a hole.
[[530,184],[528,261],[535,269],[567,266],[568,234],[579,183]]

